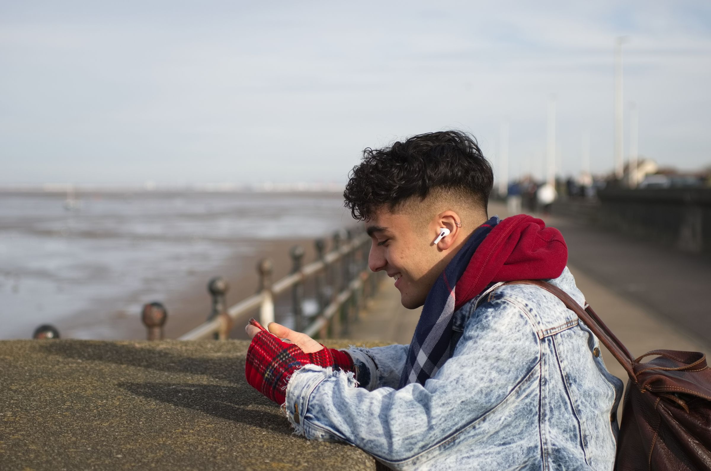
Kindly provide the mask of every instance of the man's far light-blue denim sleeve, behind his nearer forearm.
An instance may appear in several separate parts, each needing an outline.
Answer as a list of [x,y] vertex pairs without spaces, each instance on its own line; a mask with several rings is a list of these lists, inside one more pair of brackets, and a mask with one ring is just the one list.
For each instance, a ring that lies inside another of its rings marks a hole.
[[397,388],[405,366],[409,345],[376,346],[365,349],[351,346],[346,350],[353,359],[355,381],[368,391],[377,388]]

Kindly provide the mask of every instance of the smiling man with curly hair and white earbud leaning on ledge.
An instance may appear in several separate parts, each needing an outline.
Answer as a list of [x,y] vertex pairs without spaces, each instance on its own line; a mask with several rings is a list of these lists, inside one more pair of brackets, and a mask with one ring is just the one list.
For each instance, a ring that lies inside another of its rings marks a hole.
[[247,326],[250,384],[297,433],[395,469],[611,470],[622,383],[597,339],[549,292],[502,286],[550,280],[584,305],[560,233],[488,218],[491,166],[467,134],[363,155],[346,206],[373,239],[370,269],[395,279],[403,306],[424,305],[412,343],[339,351]]

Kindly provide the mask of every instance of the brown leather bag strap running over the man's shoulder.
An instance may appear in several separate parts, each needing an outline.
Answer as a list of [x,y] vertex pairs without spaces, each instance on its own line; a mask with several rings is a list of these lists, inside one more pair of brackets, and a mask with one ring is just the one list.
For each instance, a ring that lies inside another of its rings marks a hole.
[[595,314],[591,307],[583,309],[572,297],[570,297],[570,295],[567,294],[567,292],[561,290],[555,285],[551,285],[549,282],[542,280],[509,281],[504,283],[504,285],[536,285],[558,297],[565,304],[565,307],[577,314],[577,317],[579,317],[579,319],[582,320],[582,322],[590,330],[592,330],[592,333],[595,334],[600,342],[607,347],[612,356],[614,356],[625,371],[627,371],[630,379],[637,382],[636,374],[634,372],[634,356],[632,356],[624,344],[622,344],[622,342],[615,337],[615,334],[613,334],[604,322],[602,322],[602,319]]

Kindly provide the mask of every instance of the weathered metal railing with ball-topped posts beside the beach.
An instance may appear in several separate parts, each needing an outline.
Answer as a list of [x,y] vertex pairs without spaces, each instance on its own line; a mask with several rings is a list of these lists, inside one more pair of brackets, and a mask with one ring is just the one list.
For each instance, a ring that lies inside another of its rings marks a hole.
[[[367,235],[353,236],[346,231],[346,240],[340,232],[333,235],[331,251],[325,253],[326,241],[314,242],[316,260],[303,265],[304,248],[295,245],[289,251],[292,270],[281,280],[272,282],[272,261],[260,260],[257,272],[260,287],[255,295],[225,307],[228,284],[222,277],[208,283],[212,297],[212,309],[208,319],[190,332],[178,337],[180,340],[220,339],[230,336],[236,319],[259,310],[260,322],[267,325],[274,321],[275,298],[291,291],[291,311],[294,330],[311,337],[339,337],[348,334],[351,322],[358,319],[358,312],[365,300],[375,295],[383,272],[368,269],[370,238]],[[314,285],[316,312],[304,314],[304,286],[307,280]],[[158,302],[144,305],[142,320],[148,329],[148,339],[162,339],[163,326],[167,319],[166,309]]]

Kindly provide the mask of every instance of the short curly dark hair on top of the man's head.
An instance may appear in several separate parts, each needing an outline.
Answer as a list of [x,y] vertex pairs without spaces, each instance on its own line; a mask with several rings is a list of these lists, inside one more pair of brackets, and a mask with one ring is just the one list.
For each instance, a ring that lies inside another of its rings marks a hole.
[[360,221],[383,206],[395,211],[412,196],[422,201],[432,190],[459,194],[486,213],[493,186],[491,164],[476,138],[461,131],[427,132],[383,149],[368,147],[348,177],[343,197]]

